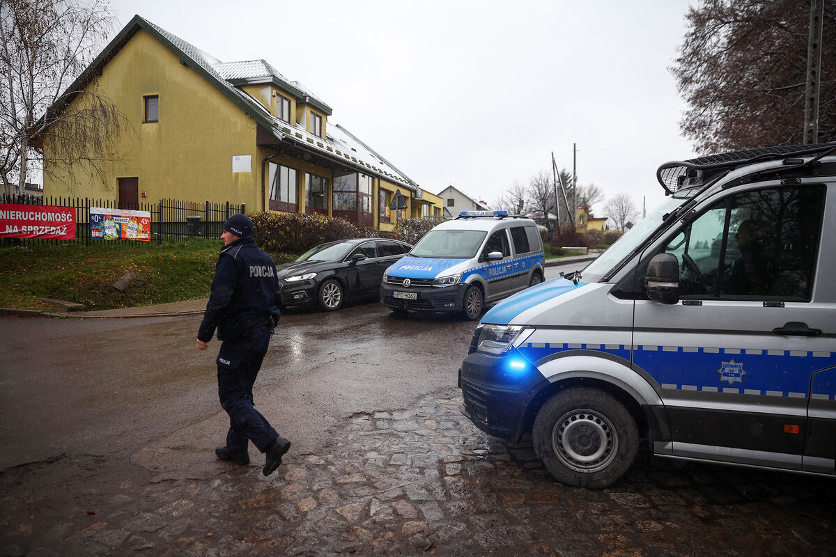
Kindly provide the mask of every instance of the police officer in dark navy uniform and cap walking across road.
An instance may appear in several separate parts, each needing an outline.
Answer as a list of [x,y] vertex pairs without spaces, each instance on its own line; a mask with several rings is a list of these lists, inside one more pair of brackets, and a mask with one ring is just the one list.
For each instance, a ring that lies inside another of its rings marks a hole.
[[232,215],[223,223],[224,247],[218,257],[212,294],[197,332],[197,348],[206,350],[217,327],[222,342],[217,354],[217,393],[229,414],[227,444],[215,449],[217,458],[246,465],[252,441],[265,453],[263,473],[282,463],[290,441],[276,433],[252,404],[256,381],[270,335],[281,316],[282,293],[276,266],[252,240],[252,220]]

